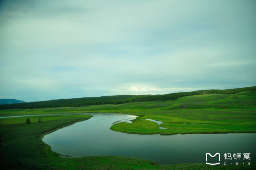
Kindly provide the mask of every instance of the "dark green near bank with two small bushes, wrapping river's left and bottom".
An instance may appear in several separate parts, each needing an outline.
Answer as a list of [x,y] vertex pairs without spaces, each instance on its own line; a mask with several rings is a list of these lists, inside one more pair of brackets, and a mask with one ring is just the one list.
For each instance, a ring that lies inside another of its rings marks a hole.
[[[39,117],[42,123],[38,123]],[[248,165],[176,164],[160,165],[155,162],[120,156],[87,156],[60,158],[41,141],[42,135],[63,126],[86,120],[90,115],[59,115],[0,119],[1,166],[3,169],[253,169]]]

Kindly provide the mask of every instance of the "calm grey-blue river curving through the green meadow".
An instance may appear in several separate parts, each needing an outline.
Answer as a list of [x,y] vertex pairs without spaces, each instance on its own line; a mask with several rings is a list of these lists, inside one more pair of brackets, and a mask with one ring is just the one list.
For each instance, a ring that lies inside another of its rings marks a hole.
[[[206,162],[206,153],[220,153],[220,163],[235,164],[234,153],[241,153],[239,164],[256,161],[256,134],[137,135],[114,132],[116,121],[136,118],[125,114],[91,114],[92,118],[45,135],[43,141],[53,151],[74,157],[117,155],[149,159],[160,164]],[[231,153],[232,160],[224,160]],[[250,161],[243,160],[250,153]],[[217,156],[208,156],[215,163]]]

